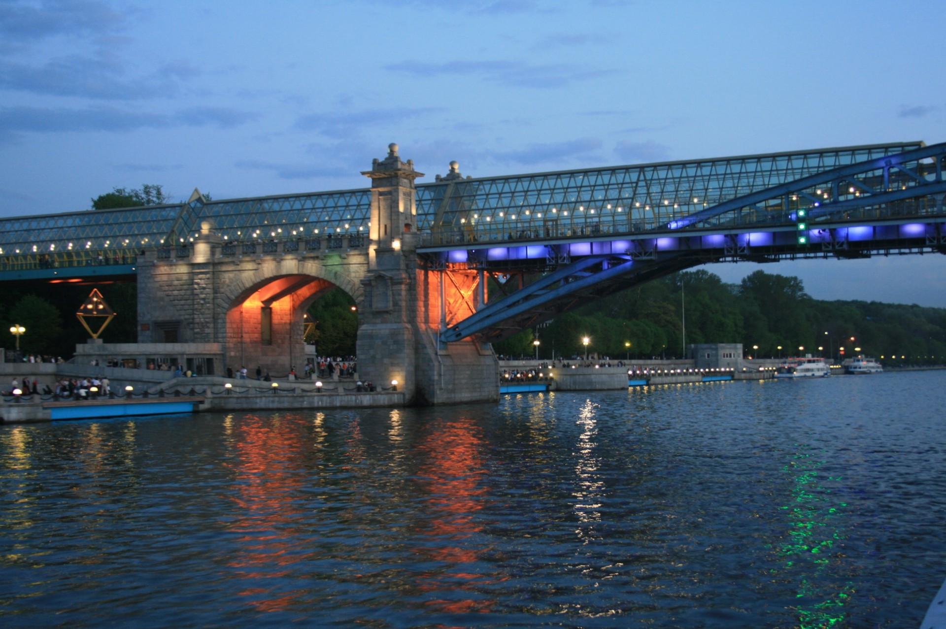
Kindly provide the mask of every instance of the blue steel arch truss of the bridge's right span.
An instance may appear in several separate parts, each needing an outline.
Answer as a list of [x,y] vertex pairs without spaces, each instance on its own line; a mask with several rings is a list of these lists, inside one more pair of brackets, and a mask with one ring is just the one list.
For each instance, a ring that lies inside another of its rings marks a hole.
[[[946,253],[944,163],[946,143],[833,168],[718,203],[666,225],[666,235],[679,236],[681,247],[674,252],[657,252],[656,247],[647,247],[648,240],[638,239],[632,241],[625,255],[575,259],[482,307],[464,321],[449,324],[442,340],[459,341],[475,335],[482,341],[500,341],[519,329],[548,321],[588,296],[603,296],[707,262]],[[899,207],[904,201],[914,202],[908,208]],[[768,225],[772,240],[766,246],[752,246],[745,237],[745,229],[734,229],[749,226],[740,220],[746,208],[753,212],[764,208],[767,217],[755,217],[751,227],[764,229]],[[865,210],[871,212],[867,214]],[[871,224],[855,229],[870,229],[871,234],[851,240],[851,221],[863,225],[861,221],[865,218]],[[912,226],[915,234],[904,235],[900,231],[899,224],[907,219],[920,223]],[[798,233],[805,234],[804,238],[796,239],[796,232],[784,227],[793,220],[812,223],[799,225]],[[780,227],[773,227],[773,223]],[[693,234],[720,235],[720,228],[725,237],[721,246],[692,247],[693,242],[702,242]],[[740,231],[744,233],[741,235]],[[777,237],[786,236],[786,232],[791,237]],[[819,247],[811,248],[808,235],[815,236],[813,242]],[[549,243],[549,249],[552,248]],[[549,257],[534,260],[535,271],[541,270],[539,263],[547,266]],[[479,264],[488,266],[482,261]],[[518,264],[521,266],[522,262]]]

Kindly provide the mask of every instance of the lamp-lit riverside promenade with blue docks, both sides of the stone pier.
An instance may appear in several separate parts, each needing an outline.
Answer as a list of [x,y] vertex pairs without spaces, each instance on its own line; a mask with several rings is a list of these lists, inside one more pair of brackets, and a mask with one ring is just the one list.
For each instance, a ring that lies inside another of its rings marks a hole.
[[[622,366],[617,366],[622,362]],[[504,374],[535,372],[529,391],[611,391],[628,386],[685,384],[719,380],[765,379],[773,371],[753,365],[743,372],[696,369],[692,360],[561,361],[548,367],[541,360],[499,362],[498,386],[514,384]],[[541,375],[541,376],[537,376]],[[54,395],[0,396],[2,423],[49,422],[61,419],[104,418],[200,411],[277,411],[340,408],[395,408],[414,400],[395,386],[375,392],[359,391],[357,376],[348,379],[286,379],[272,381],[220,376],[174,377],[170,372],[76,365],[70,363],[0,363],[0,377],[29,377],[44,385],[57,378],[108,376],[111,394],[90,399]],[[515,384],[529,384],[516,380]],[[525,391],[521,386],[517,391]],[[501,389],[500,389],[501,391]]]

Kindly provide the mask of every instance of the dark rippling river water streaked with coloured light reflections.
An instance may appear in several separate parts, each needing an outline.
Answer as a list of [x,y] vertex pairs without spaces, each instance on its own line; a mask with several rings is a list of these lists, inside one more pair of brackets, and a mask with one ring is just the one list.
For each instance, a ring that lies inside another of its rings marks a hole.
[[0,426],[0,625],[918,627],[944,389]]

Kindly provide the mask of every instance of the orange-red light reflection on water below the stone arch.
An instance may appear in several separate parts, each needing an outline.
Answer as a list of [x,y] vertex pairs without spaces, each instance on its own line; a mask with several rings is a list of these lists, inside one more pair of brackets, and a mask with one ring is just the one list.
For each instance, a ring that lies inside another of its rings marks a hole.
[[311,553],[298,552],[306,538],[299,536],[304,512],[295,498],[307,475],[306,443],[293,422],[278,418],[266,422],[249,418],[237,431],[233,500],[238,505],[232,531],[244,533],[237,541],[241,549],[229,562],[237,574],[254,585],[238,592],[261,612],[280,611],[298,602],[302,591],[278,591],[260,587],[260,580],[279,579],[291,573],[292,564]]

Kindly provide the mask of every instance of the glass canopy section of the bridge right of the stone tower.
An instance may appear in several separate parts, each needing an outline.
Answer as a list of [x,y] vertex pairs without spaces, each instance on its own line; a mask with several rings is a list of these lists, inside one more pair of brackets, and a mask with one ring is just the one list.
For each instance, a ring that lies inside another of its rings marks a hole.
[[[917,149],[872,145],[458,180],[418,192],[422,231],[477,239],[626,233],[824,170]],[[444,197],[449,195],[447,202]],[[587,229],[585,229],[587,228]],[[523,235],[523,232],[525,233]]]

